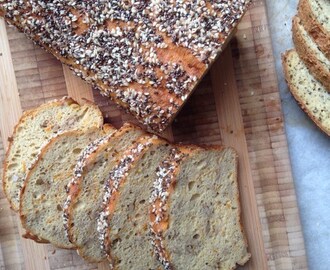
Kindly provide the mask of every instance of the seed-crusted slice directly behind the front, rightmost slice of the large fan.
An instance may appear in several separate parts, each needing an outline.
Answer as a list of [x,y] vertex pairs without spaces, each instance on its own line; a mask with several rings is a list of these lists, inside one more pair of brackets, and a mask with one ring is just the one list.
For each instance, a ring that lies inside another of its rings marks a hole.
[[141,138],[110,172],[98,220],[102,248],[113,269],[159,269],[148,231],[148,198],[156,167],[173,146]]

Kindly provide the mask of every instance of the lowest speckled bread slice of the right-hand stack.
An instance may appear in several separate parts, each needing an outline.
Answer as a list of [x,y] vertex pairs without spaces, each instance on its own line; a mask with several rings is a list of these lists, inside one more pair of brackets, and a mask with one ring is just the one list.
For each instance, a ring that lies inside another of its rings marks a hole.
[[282,65],[294,98],[315,124],[330,136],[330,93],[313,77],[295,50],[283,54]]

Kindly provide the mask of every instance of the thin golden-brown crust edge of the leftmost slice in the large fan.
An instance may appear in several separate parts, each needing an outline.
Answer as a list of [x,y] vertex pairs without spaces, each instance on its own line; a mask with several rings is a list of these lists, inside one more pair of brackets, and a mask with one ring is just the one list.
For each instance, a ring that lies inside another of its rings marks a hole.
[[[16,132],[17,132],[17,129],[24,123],[24,121],[30,117],[31,115],[36,115],[39,113],[39,111],[43,110],[44,108],[47,108],[47,107],[55,107],[55,106],[58,106],[58,105],[61,105],[61,104],[77,104],[78,103],[70,98],[70,97],[63,97],[62,99],[60,100],[52,100],[52,101],[49,101],[47,103],[44,103],[42,104],[41,106],[37,107],[37,108],[33,108],[33,109],[30,109],[30,110],[27,110],[25,112],[23,112],[20,120],[18,121],[18,123],[15,125],[14,127],[14,131],[13,131],[13,137],[15,136]],[[95,104],[94,104],[95,105]],[[9,201],[9,205],[10,205],[10,208],[13,209],[15,212],[18,212],[19,209],[16,209],[16,207],[13,205],[12,201],[11,201],[11,198],[7,192],[7,188],[6,188],[6,173],[7,173],[7,159],[8,159],[8,155],[10,153],[10,150],[11,150],[11,147],[12,147],[12,144],[13,144],[13,137],[11,137],[8,141],[9,141],[9,144],[8,144],[8,147],[7,147],[7,151],[6,151],[6,154],[5,154],[5,158],[4,158],[4,161],[3,161],[3,177],[2,177],[2,188],[3,188],[3,191],[4,191],[4,194],[5,196],[7,197],[7,200]]]

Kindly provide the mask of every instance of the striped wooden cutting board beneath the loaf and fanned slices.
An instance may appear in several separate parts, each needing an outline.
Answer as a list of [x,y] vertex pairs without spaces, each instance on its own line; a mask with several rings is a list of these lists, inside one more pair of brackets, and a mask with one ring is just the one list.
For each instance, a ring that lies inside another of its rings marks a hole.
[[[255,0],[231,44],[164,136],[237,149],[242,220],[252,254],[241,269],[302,270],[307,269],[306,255],[273,57],[265,3]],[[0,20],[1,159],[22,111],[68,94],[94,100],[116,127],[134,121]],[[108,269],[21,234],[0,191],[0,269]]]

